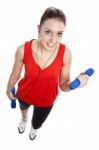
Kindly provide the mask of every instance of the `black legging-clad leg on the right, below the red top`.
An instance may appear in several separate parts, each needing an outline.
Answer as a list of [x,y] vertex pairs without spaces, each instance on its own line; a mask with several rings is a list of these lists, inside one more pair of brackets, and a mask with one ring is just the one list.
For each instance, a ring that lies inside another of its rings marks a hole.
[[48,117],[53,105],[50,107],[35,107],[32,118],[32,125],[35,129],[40,128]]

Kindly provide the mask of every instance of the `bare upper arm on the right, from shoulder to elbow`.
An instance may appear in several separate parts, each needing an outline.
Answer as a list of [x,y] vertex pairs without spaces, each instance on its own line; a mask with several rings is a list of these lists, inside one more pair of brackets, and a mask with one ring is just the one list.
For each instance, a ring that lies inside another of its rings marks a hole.
[[69,49],[65,50],[63,57],[63,67],[61,69],[59,86],[62,91],[70,91],[70,66],[71,66],[72,56]]

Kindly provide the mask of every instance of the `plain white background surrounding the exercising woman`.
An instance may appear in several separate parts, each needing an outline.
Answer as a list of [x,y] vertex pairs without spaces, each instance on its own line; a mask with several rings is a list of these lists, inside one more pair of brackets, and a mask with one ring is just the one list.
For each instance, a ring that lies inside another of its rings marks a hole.
[[[37,38],[44,10],[55,6],[67,16],[63,43],[72,51],[71,79],[89,67],[95,73],[83,89],[60,94],[34,141],[18,134],[20,111],[10,108],[6,85],[16,48]],[[99,5],[98,0],[0,0],[0,149],[99,150]]]

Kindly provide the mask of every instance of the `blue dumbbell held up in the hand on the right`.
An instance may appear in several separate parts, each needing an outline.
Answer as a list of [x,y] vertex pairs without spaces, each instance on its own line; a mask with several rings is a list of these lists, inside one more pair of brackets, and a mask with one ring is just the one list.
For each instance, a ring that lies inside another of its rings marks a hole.
[[[84,74],[88,75],[89,77],[94,73],[94,69],[93,68],[89,68],[87,69]],[[71,90],[76,89],[77,87],[79,87],[80,85],[80,80],[79,79],[75,79],[74,81],[72,81],[69,85],[69,88]]]

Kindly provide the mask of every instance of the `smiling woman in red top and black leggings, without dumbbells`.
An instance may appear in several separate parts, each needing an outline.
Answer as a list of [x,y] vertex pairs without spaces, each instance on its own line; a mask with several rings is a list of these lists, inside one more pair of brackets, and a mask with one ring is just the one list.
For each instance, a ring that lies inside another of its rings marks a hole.
[[[31,140],[36,137],[37,129],[53,107],[58,95],[58,85],[62,91],[70,91],[71,52],[61,43],[65,26],[65,14],[57,8],[47,8],[38,26],[38,39],[25,42],[16,51],[7,95],[9,99],[15,99],[11,89],[19,80],[24,65],[25,75],[19,81],[16,93],[22,113],[18,130],[19,133],[25,131],[28,109],[33,105],[29,134]],[[84,74],[80,74],[78,79],[81,82],[80,87],[88,82],[88,76]]]

